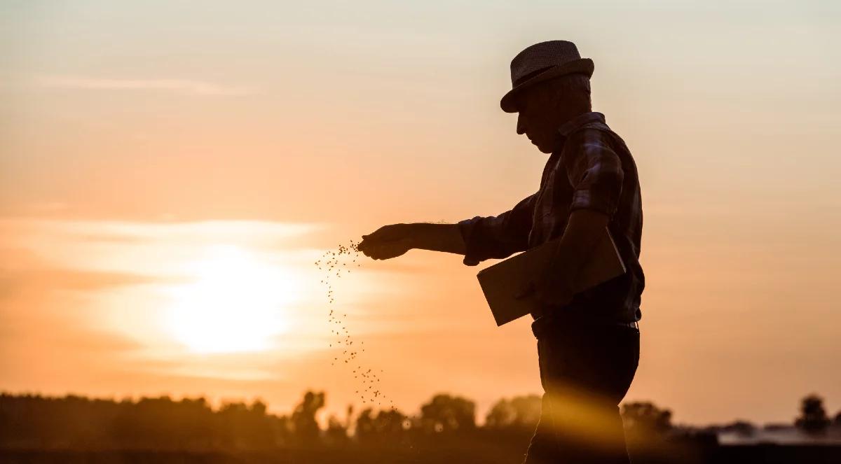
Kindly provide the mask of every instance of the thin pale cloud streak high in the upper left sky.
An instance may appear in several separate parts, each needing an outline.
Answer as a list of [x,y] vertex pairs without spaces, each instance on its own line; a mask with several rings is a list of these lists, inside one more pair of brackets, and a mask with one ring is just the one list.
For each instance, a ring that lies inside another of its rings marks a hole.
[[87,76],[36,76],[41,87],[82,90],[156,90],[219,97],[237,97],[255,93],[251,87],[225,86],[213,82],[185,79],[106,79]]

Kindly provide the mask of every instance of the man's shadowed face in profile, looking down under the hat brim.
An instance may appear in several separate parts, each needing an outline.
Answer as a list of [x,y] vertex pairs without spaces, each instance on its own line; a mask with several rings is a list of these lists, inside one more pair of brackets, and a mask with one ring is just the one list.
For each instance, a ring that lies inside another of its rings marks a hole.
[[516,98],[517,134],[526,134],[537,150],[552,153],[557,134],[557,121],[553,120],[553,98],[545,87],[526,88]]

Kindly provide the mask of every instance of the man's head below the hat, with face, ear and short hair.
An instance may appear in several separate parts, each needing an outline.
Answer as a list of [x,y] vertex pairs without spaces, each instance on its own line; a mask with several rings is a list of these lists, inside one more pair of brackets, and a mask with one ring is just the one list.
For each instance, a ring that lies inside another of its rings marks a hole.
[[513,96],[517,134],[526,134],[537,150],[552,153],[558,127],[580,113],[591,111],[590,77],[568,74],[523,88]]

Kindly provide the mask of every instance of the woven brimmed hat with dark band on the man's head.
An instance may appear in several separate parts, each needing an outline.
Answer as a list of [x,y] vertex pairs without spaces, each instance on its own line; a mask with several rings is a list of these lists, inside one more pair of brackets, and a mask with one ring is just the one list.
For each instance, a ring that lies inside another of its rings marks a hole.
[[531,45],[511,60],[511,90],[500,100],[505,113],[516,113],[515,96],[526,87],[567,74],[593,76],[593,61],[581,58],[575,44],[549,40]]

